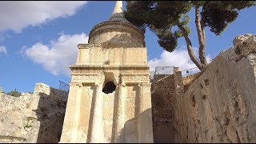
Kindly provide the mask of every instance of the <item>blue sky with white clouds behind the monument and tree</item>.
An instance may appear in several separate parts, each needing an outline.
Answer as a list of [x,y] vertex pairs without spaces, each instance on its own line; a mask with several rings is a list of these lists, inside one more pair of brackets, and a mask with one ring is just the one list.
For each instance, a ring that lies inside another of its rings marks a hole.
[[[55,88],[59,80],[70,82],[68,66],[75,63],[77,44],[87,43],[91,28],[110,18],[113,9],[114,1],[0,2],[0,86],[5,92],[33,92],[37,82]],[[220,36],[206,28],[207,58],[213,59],[233,46],[239,34],[256,34],[255,14],[256,6],[241,10]],[[194,10],[189,15],[190,39],[196,50]],[[158,46],[152,32],[146,30],[145,36],[150,70],[154,66],[179,66],[181,70],[194,67],[183,38],[169,53]]]

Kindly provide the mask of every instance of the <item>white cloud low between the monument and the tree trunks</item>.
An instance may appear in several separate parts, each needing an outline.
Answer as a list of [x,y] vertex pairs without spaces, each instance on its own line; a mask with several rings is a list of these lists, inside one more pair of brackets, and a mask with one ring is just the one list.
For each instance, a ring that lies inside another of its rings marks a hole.
[[[195,54],[198,51],[194,48]],[[198,55],[198,54],[197,54]],[[207,62],[210,62],[210,55],[206,56]],[[160,58],[154,58],[148,62],[150,66],[150,71],[154,71],[156,66],[175,66],[179,67],[179,70],[188,70],[197,67],[191,60],[186,49],[174,50],[173,52],[168,52],[163,50]]]

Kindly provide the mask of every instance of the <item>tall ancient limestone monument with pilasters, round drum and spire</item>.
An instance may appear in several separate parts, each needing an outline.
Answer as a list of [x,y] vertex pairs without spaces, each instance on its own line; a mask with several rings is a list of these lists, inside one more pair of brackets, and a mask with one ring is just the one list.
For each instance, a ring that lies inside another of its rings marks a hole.
[[78,44],[60,142],[153,142],[144,34],[117,1]]

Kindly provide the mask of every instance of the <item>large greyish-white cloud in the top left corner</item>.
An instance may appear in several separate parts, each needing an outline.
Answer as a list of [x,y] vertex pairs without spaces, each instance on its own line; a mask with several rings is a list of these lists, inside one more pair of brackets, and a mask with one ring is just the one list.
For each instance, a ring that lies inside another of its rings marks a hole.
[[85,4],[86,1],[1,1],[0,32],[21,32],[26,26],[72,16]]

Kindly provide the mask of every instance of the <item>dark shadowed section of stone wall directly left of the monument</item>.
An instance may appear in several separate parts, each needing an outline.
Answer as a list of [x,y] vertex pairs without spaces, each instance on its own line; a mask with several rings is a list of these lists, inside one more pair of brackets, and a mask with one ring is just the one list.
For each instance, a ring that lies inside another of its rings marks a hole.
[[50,94],[38,93],[38,109],[35,110],[40,127],[37,143],[58,143],[62,134],[62,126],[66,111],[66,101]]

